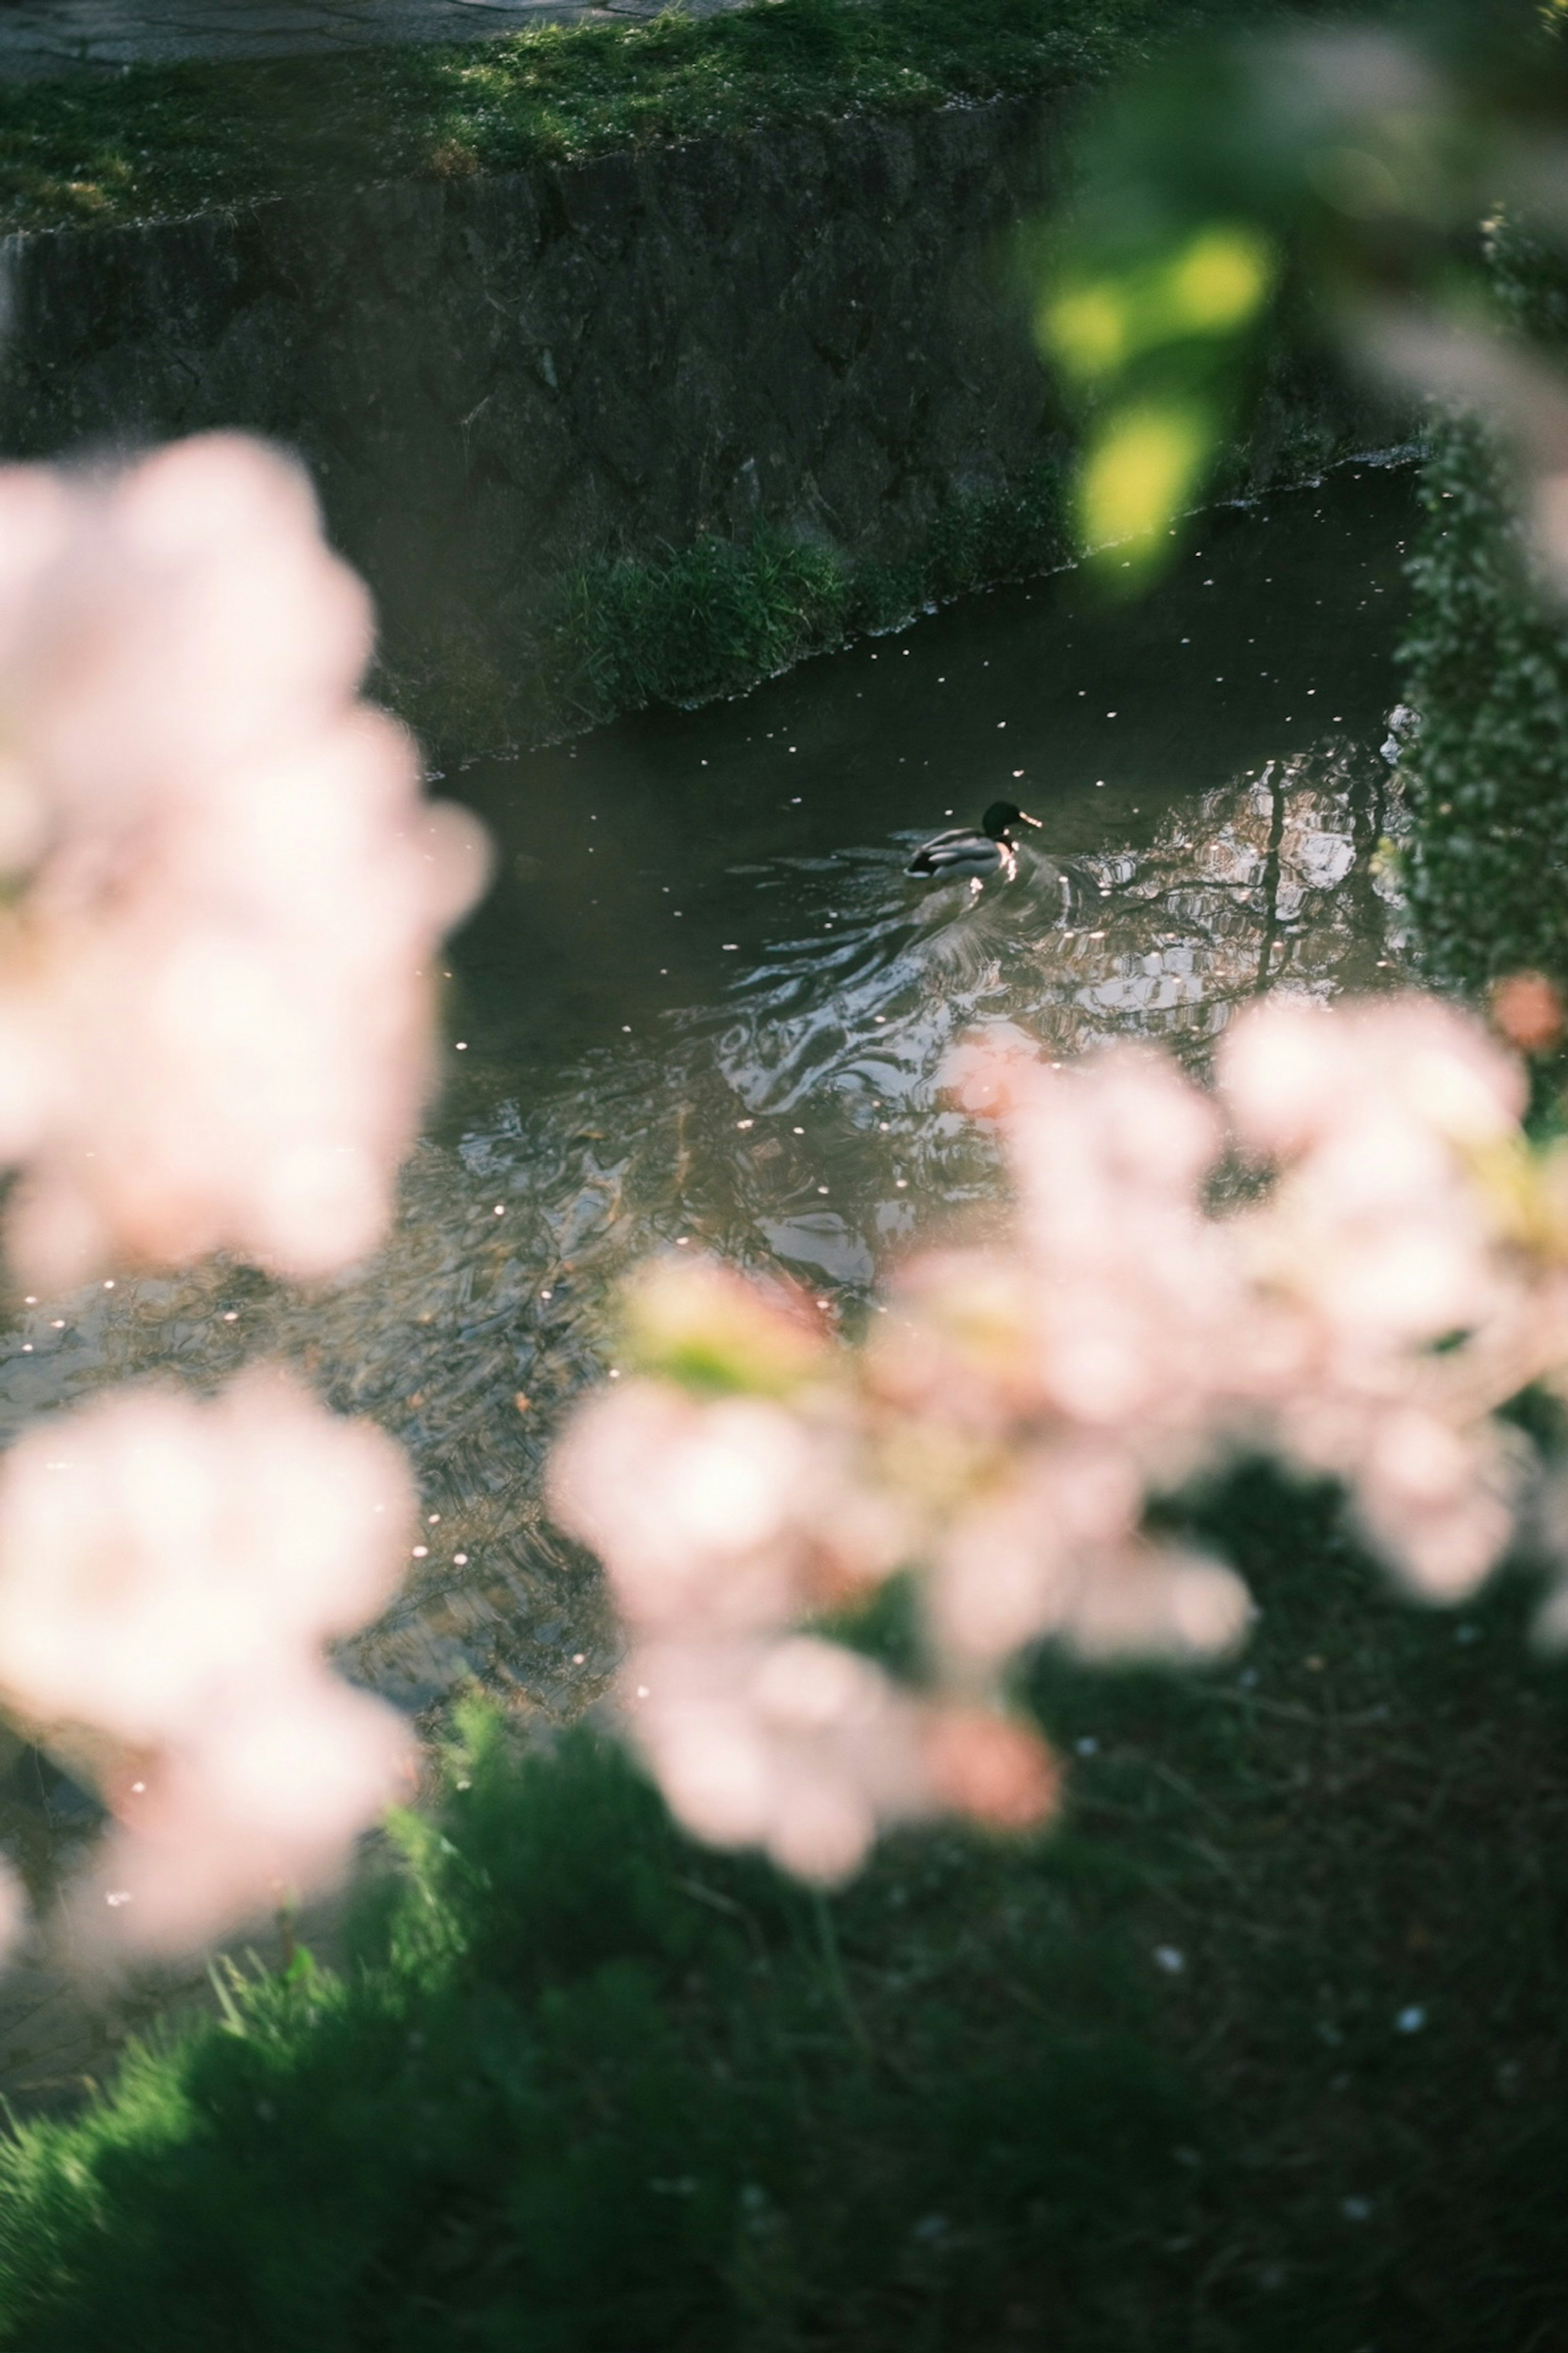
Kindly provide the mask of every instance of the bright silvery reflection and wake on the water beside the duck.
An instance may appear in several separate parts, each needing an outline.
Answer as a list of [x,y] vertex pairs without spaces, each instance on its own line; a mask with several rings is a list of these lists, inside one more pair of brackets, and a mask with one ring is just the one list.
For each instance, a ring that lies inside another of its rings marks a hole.
[[1331,739],[1168,809],[1147,847],[1025,842],[1018,880],[973,899],[950,885],[912,911],[893,854],[844,856],[832,946],[790,939],[748,974],[717,1064],[755,1113],[882,1096],[922,1153],[933,1073],[978,1021],[1063,1054],[1128,1033],[1190,1054],[1258,988],[1373,984],[1399,941],[1375,852],[1399,828],[1382,760]]

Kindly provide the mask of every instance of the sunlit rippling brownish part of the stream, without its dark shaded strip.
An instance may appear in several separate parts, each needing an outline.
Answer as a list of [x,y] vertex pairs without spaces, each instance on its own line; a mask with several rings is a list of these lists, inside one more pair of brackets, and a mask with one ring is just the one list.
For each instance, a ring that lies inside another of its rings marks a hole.
[[959,1038],[1009,1021],[1063,1056],[1143,1035],[1201,1061],[1260,986],[1394,981],[1401,913],[1371,852],[1396,826],[1387,769],[1338,741],[1182,800],[1147,847],[1025,852],[973,899],[912,901],[900,845],[799,861],[795,904],[835,913],[832,948],[792,925],[654,1040],[590,1047],[456,1144],[423,1141],[397,1231],[353,1282],[216,1264],[24,1311],[0,1438],[110,1381],[216,1386],[289,1358],[409,1447],[440,1515],[355,1668],[409,1706],[470,1675],[562,1704],[571,1652],[602,1671],[609,1631],[538,1471],[564,1402],[609,1369],[616,1280],[686,1235],[867,1292],[919,1224],[999,1200],[987,1136],[940,1094]]

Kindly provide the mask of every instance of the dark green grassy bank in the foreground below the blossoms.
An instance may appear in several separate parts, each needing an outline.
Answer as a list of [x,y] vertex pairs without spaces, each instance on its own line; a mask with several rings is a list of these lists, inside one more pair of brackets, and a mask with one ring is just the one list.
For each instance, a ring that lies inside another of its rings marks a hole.
[[[1568,1751],[1530,1586],[1415,1609],[1267,1471],[1187,1520],[1262,1605],[1246,1668],[1041,1657],[1074,1791],[1039,1845],[891,1840],[823,1901],[693,1847],[592,1734],[470,1715],[341,1974],[237,1984],[0,2148],[0,2348],[1556,2341]],[[896,1617],[860,1638],[900,1654]]]

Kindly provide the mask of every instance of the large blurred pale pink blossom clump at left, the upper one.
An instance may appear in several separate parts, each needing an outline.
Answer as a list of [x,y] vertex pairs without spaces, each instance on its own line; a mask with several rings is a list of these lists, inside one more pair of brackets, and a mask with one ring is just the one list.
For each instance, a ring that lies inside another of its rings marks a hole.
[[0,471],[0,1158],[38,1289],[212,1249],[322,1275],[381,1240],[484,840],[355,699],[369,649],[259,442]]

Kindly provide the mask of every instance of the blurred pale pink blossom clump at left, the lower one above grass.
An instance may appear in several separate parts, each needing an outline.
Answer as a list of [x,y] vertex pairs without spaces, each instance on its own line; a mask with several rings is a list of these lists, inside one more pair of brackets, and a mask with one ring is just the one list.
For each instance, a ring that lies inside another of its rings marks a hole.
[[331,1880],[411,1788],[402,1718],[322,1645],[395,1593],[400,1449],[254,1367],[212,1402],[132,1388],[0,1464],[0,1687],[118,1814],[94,1944],[169,1951]]

